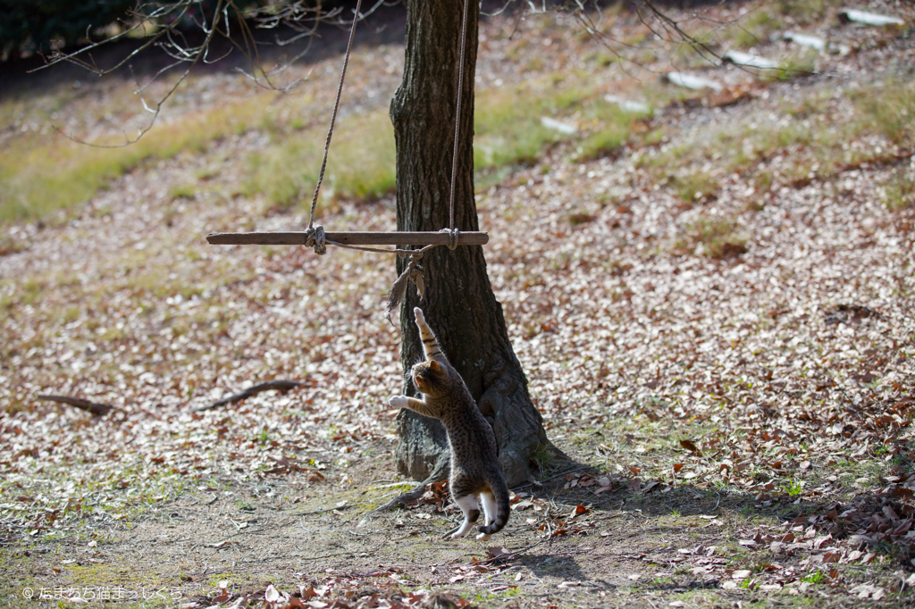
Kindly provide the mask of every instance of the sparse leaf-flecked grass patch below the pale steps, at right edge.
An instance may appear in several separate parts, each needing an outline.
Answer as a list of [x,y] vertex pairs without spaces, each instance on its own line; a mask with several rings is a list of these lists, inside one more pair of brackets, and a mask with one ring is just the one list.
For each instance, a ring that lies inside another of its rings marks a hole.
[[[635,166],[647,170],[659,184],[672,187],[684,201],[714,196],[720,176],[737,173],[759,190],[779,185],[803,186],[826,179],[848,166],[886,160],[888,151],[856,143],[868,134],[909,150],[915,146],[915,85],[889,82],[851,93],[857,112],[836,112],[844,101],[813,95],[784,108],[774,128],[762,128],[747,119],[715,130],[696,130],[676,144],[643,149],[633,156]],[[790,164],[770,159],[791,156]],[[899,169],[883,189],[888,208],[908,208],[913,199],[910,170]],[[698,195],[701,193],[701,195]]]

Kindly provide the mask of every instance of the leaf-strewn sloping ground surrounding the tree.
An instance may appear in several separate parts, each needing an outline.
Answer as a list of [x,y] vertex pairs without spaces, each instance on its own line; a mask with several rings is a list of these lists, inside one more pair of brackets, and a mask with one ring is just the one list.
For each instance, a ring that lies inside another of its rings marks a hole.
[[[665,102],[608,154],[576,160],[561,141],[479,192],[514,347],[573,459],[513,489],[485,544],[442,539],[458,511],[440,488],[360,526],[409,483],[386,407],[401,377],[381,312],[391,261],[203,242],[307,222],[238,194],[263,130],[4,226],[3,603],[915,606],[913,140],[905,121],[899,138],[858,123],[862,98],[910,82],[915,37],[910,6],[870,8],[909,26],[841,27],[829,5],[781,16],[780,32],[849,47],[784,80],[651,48],[619,69],[564,16],[484,24],[481,89],[597,65],[613,95],[672,67],[725,84]],[[400,51],[361,48],[343,118],[390,99]],[[337,59],[312,67],[318,89]],[[243,96],[235,78],[195,81],[181,104]],[[587,127],[575,107],[556,118]],[[388,229],[393,201],[332,200],[321,221]],[[192,411],[271,378],[303,386]]]

